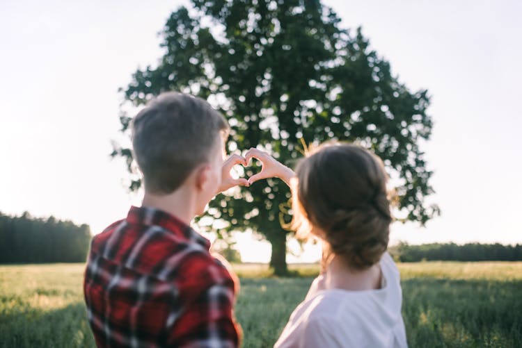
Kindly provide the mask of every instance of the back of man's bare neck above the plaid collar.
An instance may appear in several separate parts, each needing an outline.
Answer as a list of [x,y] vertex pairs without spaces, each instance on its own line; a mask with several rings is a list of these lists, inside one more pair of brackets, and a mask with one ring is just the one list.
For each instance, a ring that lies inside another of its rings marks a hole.
[[196,216],[195,199],[188,190],[183,187],[175,190],[171,194],[152,194],[145,192],[141,206],[150,206],[164,210],[166,213],[174,215],[187,225],[190,225],[193,217]]

